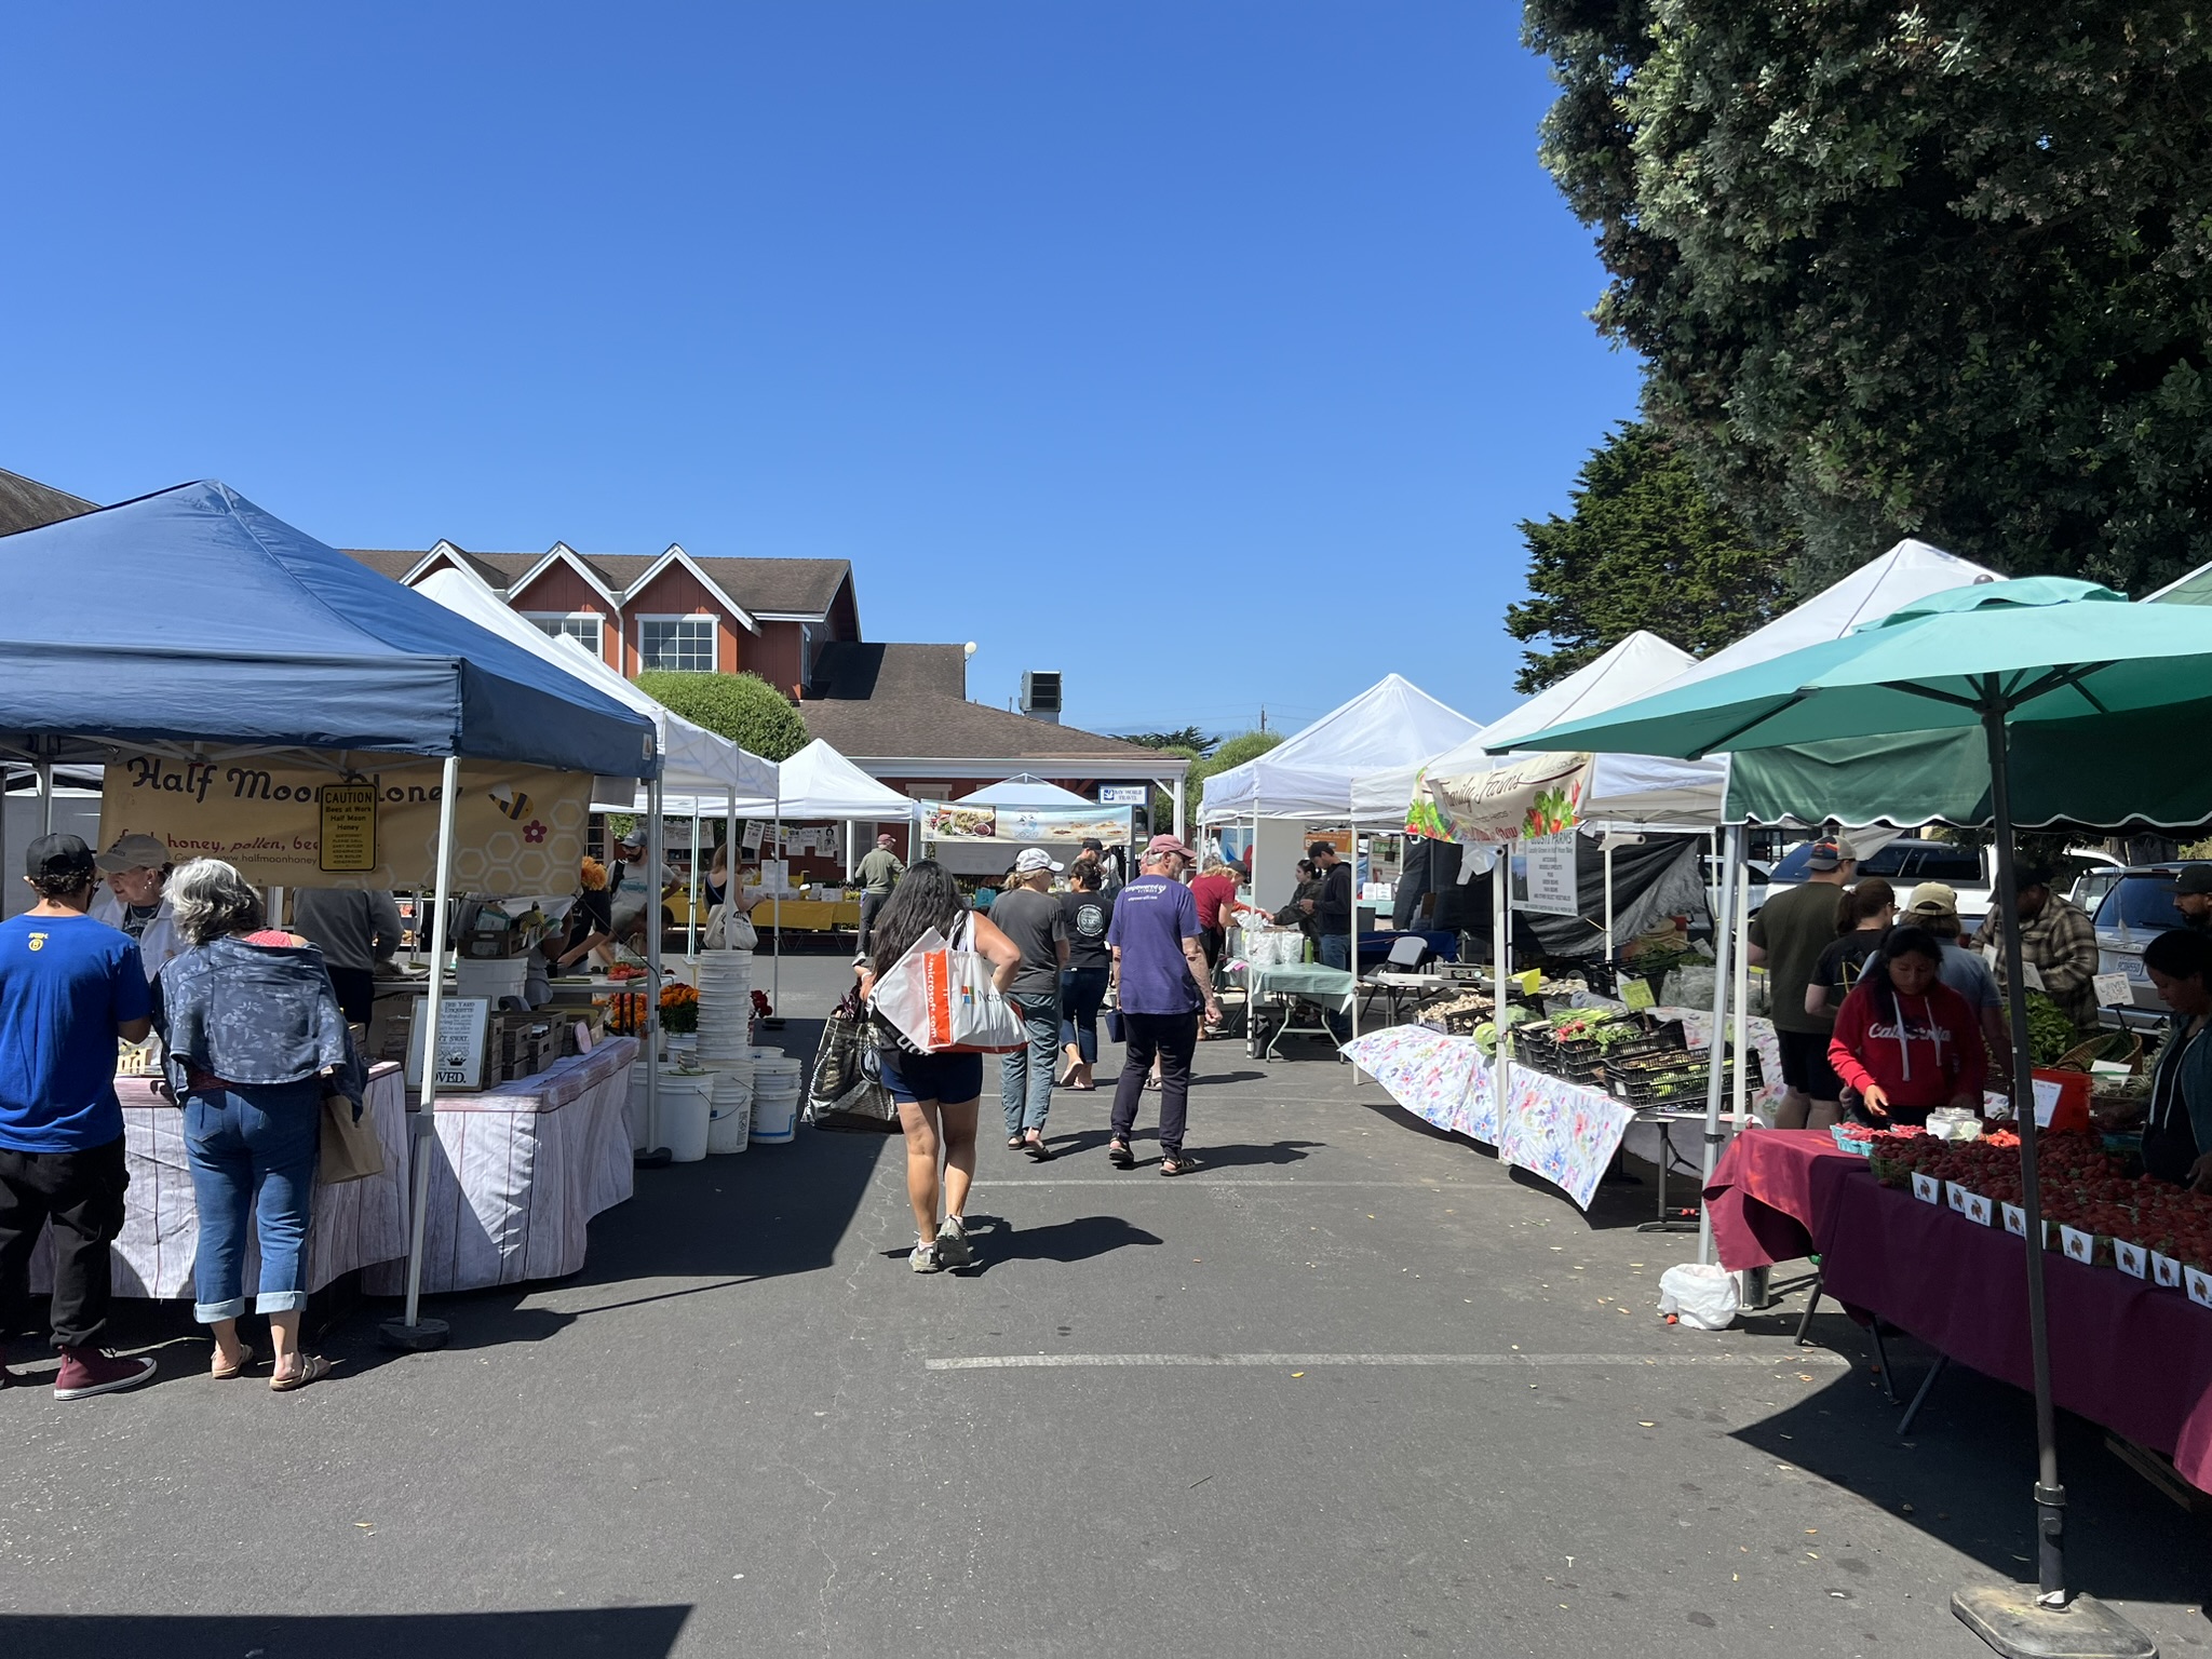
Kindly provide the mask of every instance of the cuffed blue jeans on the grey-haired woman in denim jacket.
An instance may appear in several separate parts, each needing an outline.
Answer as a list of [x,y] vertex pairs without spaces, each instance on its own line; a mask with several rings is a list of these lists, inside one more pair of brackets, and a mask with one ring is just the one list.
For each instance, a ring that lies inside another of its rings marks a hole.
[[307,1210],[323,1146],[323,1079],[210,1088],[184,1108],[184,1150],[199,1199],[192,1318],[246,1312],[246,1225],[261,1245],[259,1314],[307,1305]]

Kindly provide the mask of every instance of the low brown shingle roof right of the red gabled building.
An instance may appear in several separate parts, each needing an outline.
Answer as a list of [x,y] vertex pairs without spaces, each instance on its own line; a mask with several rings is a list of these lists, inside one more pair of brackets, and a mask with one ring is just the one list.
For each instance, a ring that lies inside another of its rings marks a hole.
[[880,761],[942,757],[975,761],[1159,761],[1152,750],[1077,726],[1033,721],[964,695],[960,646],[823,646],[816,690],[799,703],[807,732],[838,754]]

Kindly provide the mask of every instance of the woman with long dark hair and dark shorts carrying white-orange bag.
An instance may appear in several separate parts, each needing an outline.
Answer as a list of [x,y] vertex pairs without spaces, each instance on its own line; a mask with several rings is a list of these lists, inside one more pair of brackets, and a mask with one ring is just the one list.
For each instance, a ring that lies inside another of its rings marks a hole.
[[[1022,967],[1020,947],[991,918],[960,902],[960,887],[936,858],[916,858],[898,887],[876,911],[860,995],[876,993],[876,980],[914,949],[929,929],[951,945],[991,962],[991,984],[1000,995]],[[925,1055],[880,1013],[869,1015],[883,1086],[898,1102],[898,1126],[907,1133],[907,1199],[914,1203],[914,1272],[964,1267],[973,1261],[967,1239],[967,1194],[975,1179],[975,1102],[982,1095],[982,1055]],[[942,1159],[942,1183],[938,1164]],[[942,1188],[942,1219],[938,1194]]]

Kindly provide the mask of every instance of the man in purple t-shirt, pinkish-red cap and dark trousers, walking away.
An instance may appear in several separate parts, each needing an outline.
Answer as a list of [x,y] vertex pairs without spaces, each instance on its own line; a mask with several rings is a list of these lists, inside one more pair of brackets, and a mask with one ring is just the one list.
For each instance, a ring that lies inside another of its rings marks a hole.
[[1190,1115],[1190,1055],[1199,1046],[1199,1011],[1221,1018],[1206,956],[1199,953],[1199,900],[1181,883],[1192,852],[1175,836],[1152,836],[1144,849],[1144,874],[1113,902],[1113,989],[1119,993],[1121,1082],[1113,1095],[1113,1141],[1106,1157],[1117,1170],[1137,1168],[1128,1133],[1137,1124],[1144,1079],[1159,1055],[1159,1172],[1186,1175],[1197,1159],[1183,1155],[1183,1124]]

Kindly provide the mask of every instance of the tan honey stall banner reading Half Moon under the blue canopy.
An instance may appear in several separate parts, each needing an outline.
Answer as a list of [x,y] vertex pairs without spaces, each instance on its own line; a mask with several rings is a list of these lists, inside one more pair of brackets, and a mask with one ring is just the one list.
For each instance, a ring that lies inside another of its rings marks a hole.
[[[584,858],[588,772],[462,761],[453,885],[566,894]],[[177,863],[223,858],[257,887],[429,887],[442,765],[394,757],[341,772],[124,750],[100,792],[100,845],[148,834]]]

